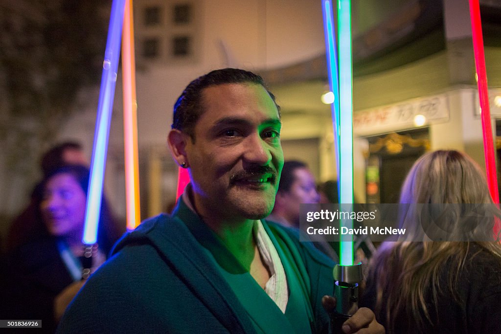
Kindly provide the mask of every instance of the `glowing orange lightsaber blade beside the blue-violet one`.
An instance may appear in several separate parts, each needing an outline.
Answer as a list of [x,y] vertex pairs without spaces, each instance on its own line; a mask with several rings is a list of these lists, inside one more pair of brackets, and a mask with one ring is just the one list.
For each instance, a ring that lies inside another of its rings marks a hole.
[[134,229],[139,225],[141,219],[139,210],[139,159],[133,22],[132,0],[126,0],[122,32],[122,84],[127,230]]

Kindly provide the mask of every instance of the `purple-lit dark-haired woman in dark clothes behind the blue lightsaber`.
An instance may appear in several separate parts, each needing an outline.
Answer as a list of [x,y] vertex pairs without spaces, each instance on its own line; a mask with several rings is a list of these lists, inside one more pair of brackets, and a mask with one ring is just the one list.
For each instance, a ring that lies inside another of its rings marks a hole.
[[[30,241],[11,250],[3,261],[0,291],[5,319],[41,319],[45,332],[54,332],[59,318],[84,284],[82,235],[87,202],[89,169],[66,165],[41,182],[36,222]],[[91,272],[106,260],[120,231],[102,199],[99,247]]]

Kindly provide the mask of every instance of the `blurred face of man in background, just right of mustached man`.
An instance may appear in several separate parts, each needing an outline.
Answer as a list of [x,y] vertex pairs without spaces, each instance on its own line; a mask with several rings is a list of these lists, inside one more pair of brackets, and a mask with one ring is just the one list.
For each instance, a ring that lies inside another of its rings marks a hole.
[[318,203],[320,195],[317,192],[315,177],[308,168],[296,168],[293,172],[294,182],[289,191],[281,192],[281,199],[294,224],[299,224],[299,209],[303,203]]

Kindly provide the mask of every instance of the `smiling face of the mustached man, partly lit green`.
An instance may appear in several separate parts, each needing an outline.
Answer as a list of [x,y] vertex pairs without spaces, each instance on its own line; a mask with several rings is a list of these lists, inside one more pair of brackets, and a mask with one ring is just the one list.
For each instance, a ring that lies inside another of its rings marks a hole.
[[267,216],[284,165],[275,103],[254,84],[205,88],[202,103],[195,142],[186,145],[198,213],[221,220]]

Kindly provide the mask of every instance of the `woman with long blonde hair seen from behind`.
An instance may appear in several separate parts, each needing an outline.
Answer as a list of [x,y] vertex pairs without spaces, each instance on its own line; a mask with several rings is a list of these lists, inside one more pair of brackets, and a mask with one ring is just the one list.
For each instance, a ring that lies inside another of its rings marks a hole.
[[[416,161],[400,203],[492,200],[476,163],[449,150]],[[421,233],[428,241],[383,243],[369,265],[361,305],[374,310],[388,333],[501,333],[501,246],[493,242],[493,216],[466,229],[472,241],[429,241],[418,211],[409,210],[401,224],[411,229],[407,240]],[[456,217],[449,212],[440,218],[461,228]]]

